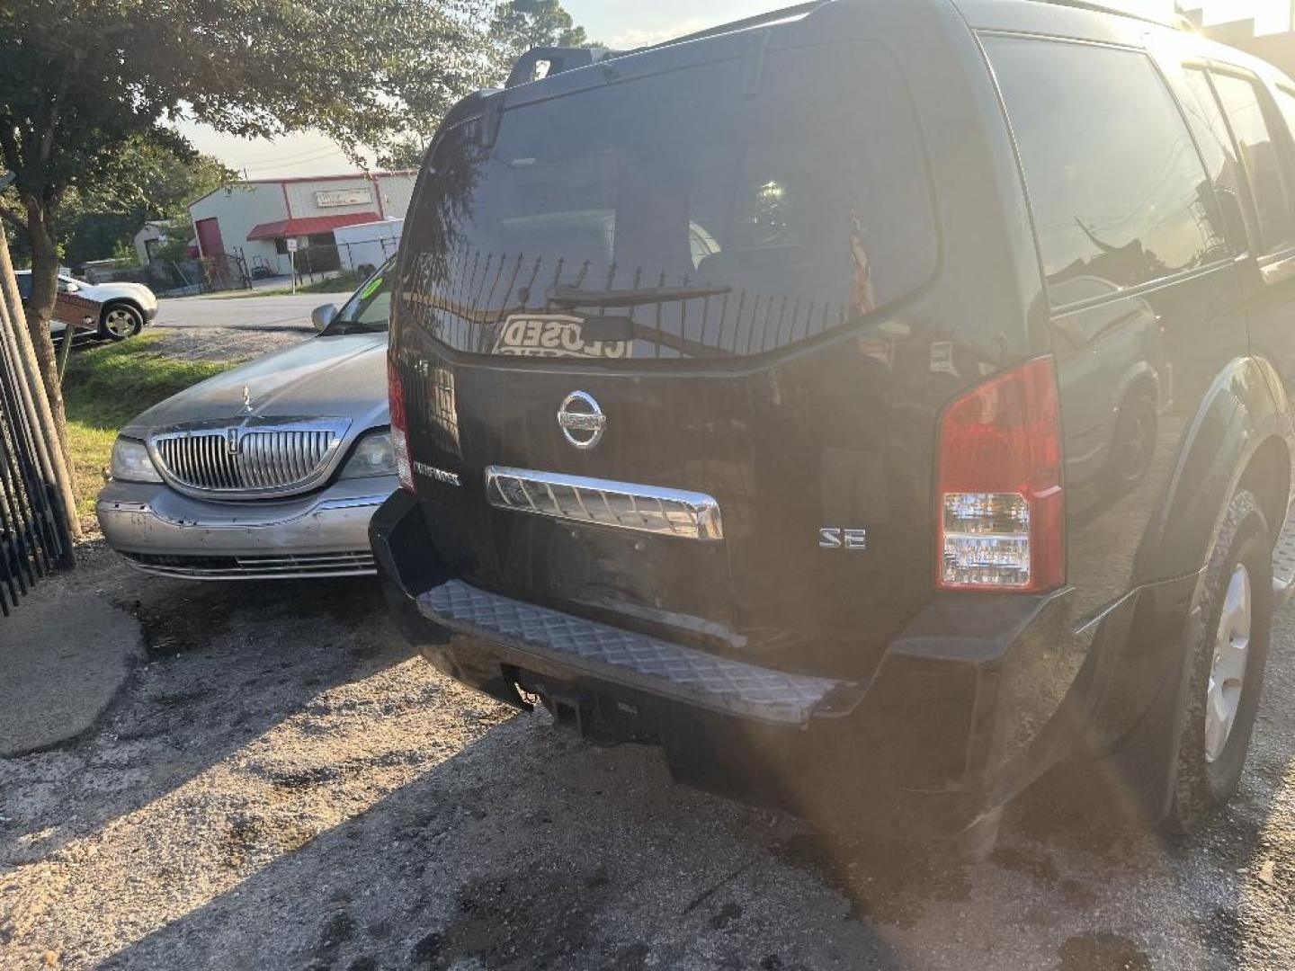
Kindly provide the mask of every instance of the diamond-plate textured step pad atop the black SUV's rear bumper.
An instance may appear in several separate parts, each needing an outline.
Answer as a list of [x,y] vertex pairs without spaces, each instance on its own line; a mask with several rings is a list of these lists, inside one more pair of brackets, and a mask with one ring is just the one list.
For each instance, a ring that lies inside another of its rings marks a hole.
[[478,590],[458,580],[418,598],[421,612],[460,633],[688,704],[803,725],[839,713],[857,685],[790,675]]

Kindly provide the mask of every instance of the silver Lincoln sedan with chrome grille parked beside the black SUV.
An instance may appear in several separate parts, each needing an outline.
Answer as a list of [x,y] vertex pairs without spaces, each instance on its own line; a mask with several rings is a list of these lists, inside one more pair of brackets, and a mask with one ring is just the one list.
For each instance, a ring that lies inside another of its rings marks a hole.
[[368,527],[398,487],[383,267],[320,335],[196,385],[113,448],[96,511],[141,570],[207,580],[374,572]]

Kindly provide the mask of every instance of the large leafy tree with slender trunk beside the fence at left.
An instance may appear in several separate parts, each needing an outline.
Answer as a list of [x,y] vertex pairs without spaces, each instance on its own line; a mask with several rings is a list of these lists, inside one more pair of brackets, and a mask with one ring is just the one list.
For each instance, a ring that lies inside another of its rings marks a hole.
[[315,128],[357,159],[439,118],[490,70],[491,12],[471,0],[5,0],[0,4],[0,201],[31,251],[28,324],[65,438],[48,321],[58,221],[188,113],[242,136]]

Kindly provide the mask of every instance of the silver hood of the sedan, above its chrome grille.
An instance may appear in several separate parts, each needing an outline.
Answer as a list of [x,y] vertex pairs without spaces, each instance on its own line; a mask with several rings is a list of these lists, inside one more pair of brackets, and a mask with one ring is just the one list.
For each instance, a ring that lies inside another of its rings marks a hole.
[[348,440],[388,425],[387,335],[303,340],[172,395],[122,434],[146,439],[163,427],[221,419],[237,425],[247,418],[346,418]]

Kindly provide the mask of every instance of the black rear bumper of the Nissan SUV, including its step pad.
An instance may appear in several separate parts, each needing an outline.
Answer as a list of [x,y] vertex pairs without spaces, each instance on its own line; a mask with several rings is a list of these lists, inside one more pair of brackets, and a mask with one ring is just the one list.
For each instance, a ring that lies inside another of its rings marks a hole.
[[584,730],[659,742],[672,774],[701,788],[826,825],[954,836],[1050,764],[1039,733],[1022,743],[1019,712],[1004,717],[1001,689],[1018,646],[1061,623],[1066,594],[988,612],[967,601],[966,616],[941,602],[870,680],[834,681],[475,589],[438,561],[405,493],[370,539],[403,632],[440,671],[517,707],[539,695]]

